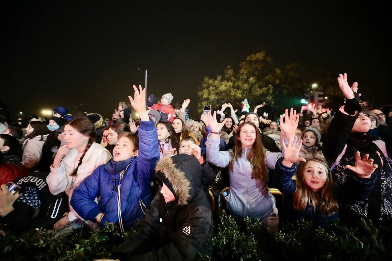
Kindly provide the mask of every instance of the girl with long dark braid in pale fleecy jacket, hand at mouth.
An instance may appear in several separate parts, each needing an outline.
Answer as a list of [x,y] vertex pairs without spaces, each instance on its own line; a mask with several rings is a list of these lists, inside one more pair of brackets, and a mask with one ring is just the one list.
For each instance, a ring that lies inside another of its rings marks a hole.
[[[111,159],[109,151],[95,142],[94,125],[88,119],[74,119],[65,127],[67,142],[58,149],[46,178],[49,190],[56,195],[64,192],[71,200],[74,189],[93,171]],[[83,220],[69,205],[70,212],[54,224],[54,229],[64,227],[70,221]]]

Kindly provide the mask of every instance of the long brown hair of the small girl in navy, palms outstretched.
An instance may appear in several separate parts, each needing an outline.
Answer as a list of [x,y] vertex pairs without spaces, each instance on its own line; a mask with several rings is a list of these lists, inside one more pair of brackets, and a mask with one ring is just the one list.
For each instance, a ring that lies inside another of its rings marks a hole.
[[[320,162],[327,175],[327,180],[325,185],[319,189],[319,191],[314,192],[310,189],[304,180],[305,168],[310,161]],[[298,164],[297,169],[297,189],[293,195],[293,206],[294,209],[298,211],[305,211],[305,209],[311,204],[313,205],[313,211],[319,206],[320,212],[325,215],[332,215],[339,211],[338,200],[334,196],[334,185],[332,181],[332,174],[329,170],[327,163],[319,158],[312,158],[307,162],[301,162]]]

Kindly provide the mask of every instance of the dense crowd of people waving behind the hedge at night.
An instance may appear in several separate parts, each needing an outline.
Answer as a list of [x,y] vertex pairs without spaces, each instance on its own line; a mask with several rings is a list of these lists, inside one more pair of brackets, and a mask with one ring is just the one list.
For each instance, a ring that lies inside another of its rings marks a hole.
[[[247,112],[247,103],[241,115],[225,103],[191,119],[189,99],[172,106],[168,93],[154,104],[141,86],[110,121],[62,106],[50,119],[13,121],[2,110],[1,229],[138,226],[113,257],[192,260],[213,252],[212,202],[221,200],[236,219],[263,220],[268,233],[299,218],[322,228],[390,222],[392,106],[362,105],[346,74],[338,85],[339,108],[291,108],[278,121],[263,104]],[[286,196],[284,211],[270,188]]]

